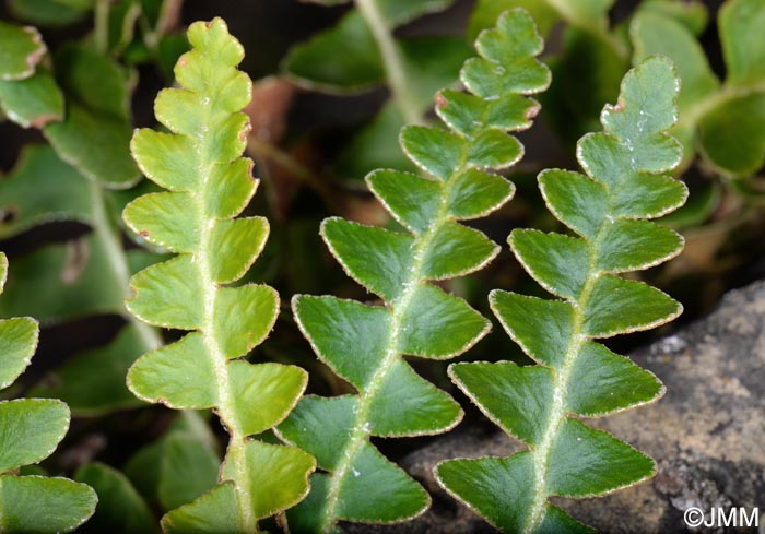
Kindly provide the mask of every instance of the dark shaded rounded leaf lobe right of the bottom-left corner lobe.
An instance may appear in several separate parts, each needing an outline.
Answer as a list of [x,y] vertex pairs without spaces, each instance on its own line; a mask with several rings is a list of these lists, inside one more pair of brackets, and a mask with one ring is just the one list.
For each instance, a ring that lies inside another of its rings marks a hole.
[[157,533],[152,511],[119,471],[103,463],[90,463],[80,467],[76,482],[87,484],[98,495],[98,503],[91,520],[79,532],[132,534]]

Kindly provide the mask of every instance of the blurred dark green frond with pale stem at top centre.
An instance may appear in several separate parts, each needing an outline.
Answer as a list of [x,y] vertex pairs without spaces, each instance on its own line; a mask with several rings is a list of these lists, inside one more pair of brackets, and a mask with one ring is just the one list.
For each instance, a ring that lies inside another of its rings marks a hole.
[[[287,52],[282,71],[303,86],[330,93],[356,93],[380,84],[391,90],[390,100],[341,152],[334,170],[342,178],[357,180],[376,168],[411,169],[396,147],[399,130],[425,114],[435,91],[454,83],[470,50],[458,37],[402,38],[393,29],[452,2],[365,1],[336,26]],[[337,54],[339,49],[344,52]]]

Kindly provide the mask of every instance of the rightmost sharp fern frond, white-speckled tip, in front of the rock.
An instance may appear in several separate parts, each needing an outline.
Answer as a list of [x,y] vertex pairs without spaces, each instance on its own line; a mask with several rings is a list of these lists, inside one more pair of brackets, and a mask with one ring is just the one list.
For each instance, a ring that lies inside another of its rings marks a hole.
[[604,131],[579,141],[587,176],[539,176],[548,207],[576,236],[516,229],[508,240],[526,271],[561,299],[501,290],[490,297],[507,333],[538,365],[449,367],[479,408],[529,447],[507,459],[451,460],[435,470],[447,491],[503,532],[590,532],[548,499],[603,495],[655,473],[650,458],[577,417],[629,410],[663,393],[654,375],[592,340],[650,329],[682,311],[658,289],[614,274],[682,249],[681,236],[646,221],[686,198],[683,183],[668,175],[682,156],[667,133],[679,87],[666,58],[640,63],[624,78],[617,104],[603,109]]

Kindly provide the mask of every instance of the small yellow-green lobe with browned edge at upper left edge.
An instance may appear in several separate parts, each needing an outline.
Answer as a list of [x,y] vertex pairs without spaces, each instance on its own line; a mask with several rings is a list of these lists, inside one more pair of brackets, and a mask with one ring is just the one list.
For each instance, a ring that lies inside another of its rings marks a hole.
[[46,50],[34,27],[0,22],[0,80],[30,78]]

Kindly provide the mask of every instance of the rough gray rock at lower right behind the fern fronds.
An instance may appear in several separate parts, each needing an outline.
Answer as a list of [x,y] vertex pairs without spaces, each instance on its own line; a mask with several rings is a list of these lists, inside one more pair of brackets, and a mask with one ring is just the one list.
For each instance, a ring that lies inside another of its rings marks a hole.
[[[638,351],[633,359],[664,382],[664,397],[588,424],[650,454],[658,462],[657,476],[603,498],[556,503],[603,533],[756,532],[688,530],[683,512],[688,507],[760,507],[765,512],[765,283],[729,293],[709,317]],[[445,459],[509,455],[521,448],[489,427],[459,428],[401,462],[433,495],[427,512],[400,525],[346,530],[495,532],[446,495],[432,468]]]

